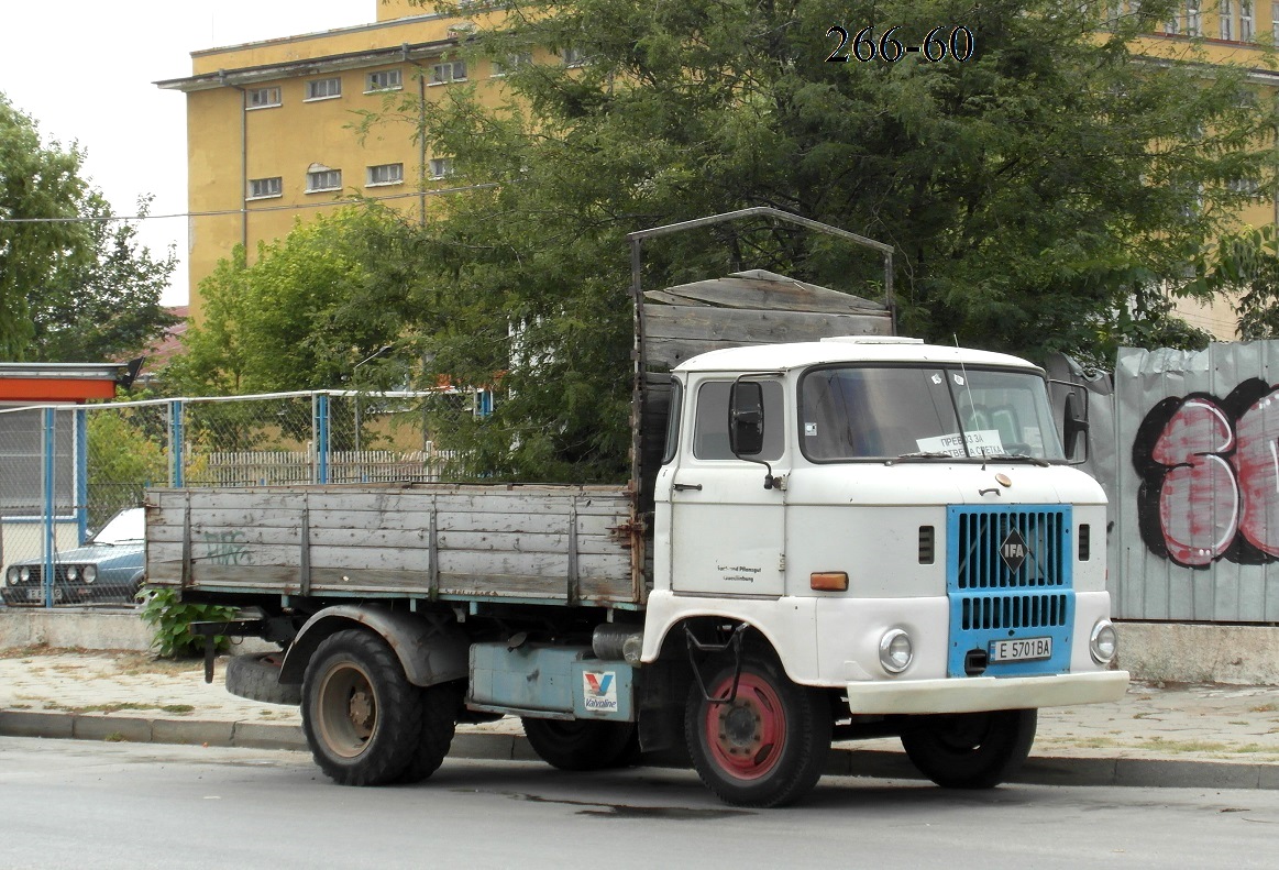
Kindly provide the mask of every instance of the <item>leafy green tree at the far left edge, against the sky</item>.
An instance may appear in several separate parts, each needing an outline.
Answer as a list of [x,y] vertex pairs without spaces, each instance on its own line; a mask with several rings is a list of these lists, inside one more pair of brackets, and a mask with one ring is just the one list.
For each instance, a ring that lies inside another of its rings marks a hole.
[[[0,356],[106,362],[177,322],[160,306],[175,267],[114,220],[83,178],[84,154],[45,143],[0,95]],[[146,214],[147,200],[139,203]],[[78,220],[70,220],[78,219]]]

